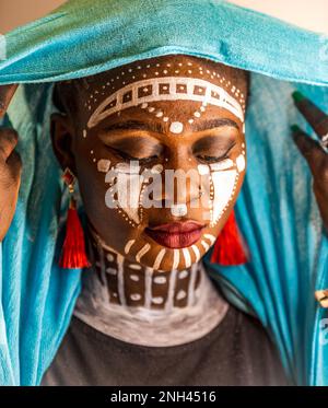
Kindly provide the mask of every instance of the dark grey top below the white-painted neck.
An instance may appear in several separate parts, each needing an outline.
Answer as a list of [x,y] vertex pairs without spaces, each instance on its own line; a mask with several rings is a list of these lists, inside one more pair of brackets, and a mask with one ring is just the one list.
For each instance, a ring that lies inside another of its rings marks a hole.
[[260,323],[230,306],[201,339],[145,347],[106,336],[72,317],[42,385],[288,385]]

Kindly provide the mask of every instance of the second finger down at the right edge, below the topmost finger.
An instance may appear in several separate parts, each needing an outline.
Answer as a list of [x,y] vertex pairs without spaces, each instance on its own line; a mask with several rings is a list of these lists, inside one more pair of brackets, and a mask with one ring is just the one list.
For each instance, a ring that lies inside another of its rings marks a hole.
[[292,126],[293,139],[307,161],[311,172],[316,175],[320,168],[320,163],[326,159],[326,153],[318,142],[313,140],[305,131],[303,131],[298,126]]

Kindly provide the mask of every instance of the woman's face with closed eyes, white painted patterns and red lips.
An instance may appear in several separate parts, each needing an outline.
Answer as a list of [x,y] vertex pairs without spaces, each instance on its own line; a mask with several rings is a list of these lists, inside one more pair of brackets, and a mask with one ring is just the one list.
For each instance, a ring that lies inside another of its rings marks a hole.
[[54,116],[57,156],[106,245],[165,271],[207,253],[244,179],[246,93],[236,69],[166,56],[94,77],[73,121]]

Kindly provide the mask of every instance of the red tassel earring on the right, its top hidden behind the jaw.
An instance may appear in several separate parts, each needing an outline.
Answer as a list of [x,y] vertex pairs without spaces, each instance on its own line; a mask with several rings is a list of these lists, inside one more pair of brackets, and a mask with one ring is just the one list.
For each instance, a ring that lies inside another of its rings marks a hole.
[[247,261],[248,254],[238,231],[235,212],[232,211],[215,241],[211,263],[233,266],[243,265]]

